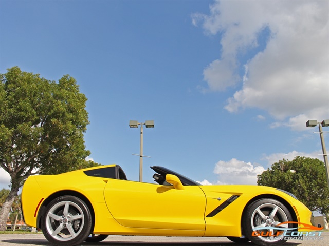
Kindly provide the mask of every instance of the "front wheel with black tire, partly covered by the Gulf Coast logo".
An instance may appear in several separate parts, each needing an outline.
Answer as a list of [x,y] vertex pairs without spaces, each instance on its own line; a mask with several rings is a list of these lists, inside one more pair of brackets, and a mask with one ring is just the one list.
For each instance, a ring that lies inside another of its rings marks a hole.
[[[259,246],[281,245],[287,240],[279,231],[291,224],[278,227],[282,222],[293,221],[289,210],[278,200],[265,198],[252,202],[243,216],[245,235]],[[268,229],[264,229],[268,227]],[[260,228],[258,230],[258,228]],[[258,232],[258,233],[255,233]],[[273,236],[274,235],[274,236]]]

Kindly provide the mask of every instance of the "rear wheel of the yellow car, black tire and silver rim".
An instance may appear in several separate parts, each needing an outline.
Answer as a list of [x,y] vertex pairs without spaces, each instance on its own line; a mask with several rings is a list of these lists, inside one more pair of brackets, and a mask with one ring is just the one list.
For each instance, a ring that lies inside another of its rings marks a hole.
[[60,196],[46,207],[41,229],[46,239],[58,246],[82,243],[92,228],[88,206],[78,197]]

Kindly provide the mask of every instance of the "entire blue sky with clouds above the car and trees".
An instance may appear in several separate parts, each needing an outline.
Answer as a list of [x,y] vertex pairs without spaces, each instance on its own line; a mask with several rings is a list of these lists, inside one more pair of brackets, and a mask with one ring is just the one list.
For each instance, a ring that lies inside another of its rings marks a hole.
[[0,20],[0,73],[76,78],[89,158],[131,180],[140,134],[130,119],[155,121],[146,182],[149,166],[255,184],[280,159],[323,160],[305,122],[329,119],[327,1],[1,0]]

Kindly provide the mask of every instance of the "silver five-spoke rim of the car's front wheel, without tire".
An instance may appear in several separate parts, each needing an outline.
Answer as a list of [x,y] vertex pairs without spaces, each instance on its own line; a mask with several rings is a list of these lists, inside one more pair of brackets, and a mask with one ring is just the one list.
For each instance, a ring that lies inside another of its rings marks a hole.
[[[258,237],[262,241],[276,242],[282,240],[283,233],[278,235],[278,230],[287,229],[288,224],[281,224],[289,221],[286,212],[277,204],[264,203],[258,206],[252,213],[251,228],[258,231]],[[279,224],[281,224],[279,226]]]

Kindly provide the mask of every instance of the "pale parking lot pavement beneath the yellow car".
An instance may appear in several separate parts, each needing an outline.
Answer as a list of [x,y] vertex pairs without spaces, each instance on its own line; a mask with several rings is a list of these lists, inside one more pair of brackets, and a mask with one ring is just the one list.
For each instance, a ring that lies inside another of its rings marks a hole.
[[[51,245],[42,233],[38,234],[0,234],[1,246],[30,246],[30,245]],[[173,246],[173,245],[189,245],[189,246],[233,246],[233,245],[254,245],[251,242],[244,244],[236,244],[229,241],[226,237],[149,237],[149,236],[109,236],[102,242],[83,243],[83,246],[100,245],[100,246]],[[323,232],[321,237],[307,238],[306,240],[289,240],[285,246],[294,245],[329,245],[329,232]]]

